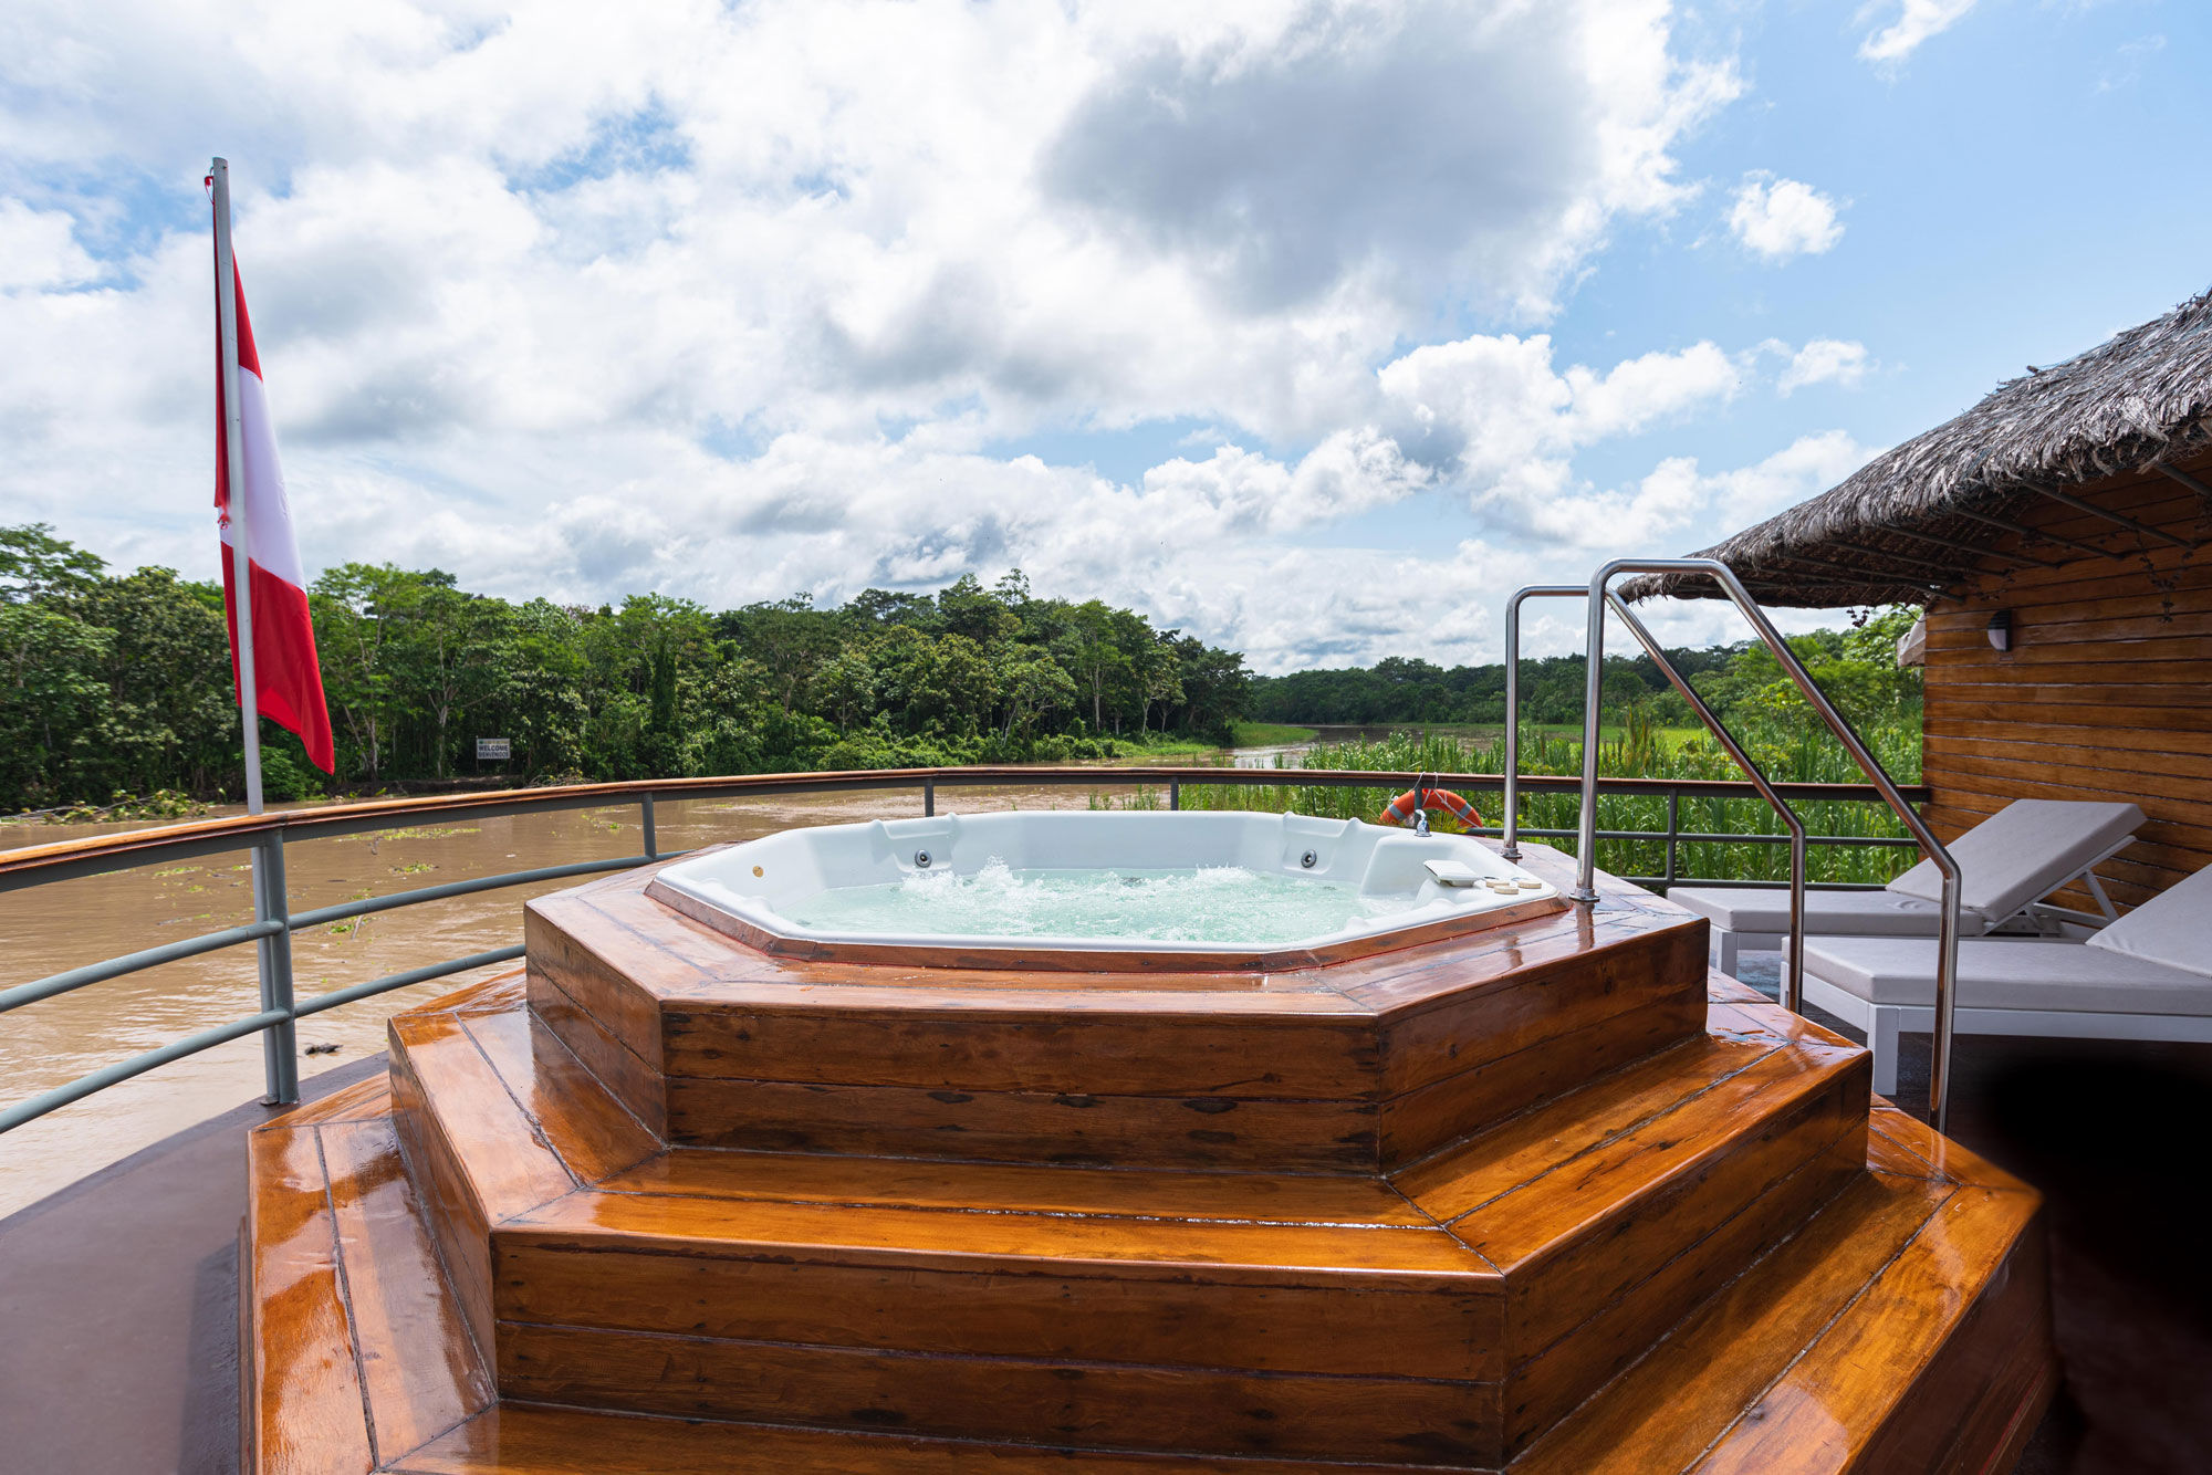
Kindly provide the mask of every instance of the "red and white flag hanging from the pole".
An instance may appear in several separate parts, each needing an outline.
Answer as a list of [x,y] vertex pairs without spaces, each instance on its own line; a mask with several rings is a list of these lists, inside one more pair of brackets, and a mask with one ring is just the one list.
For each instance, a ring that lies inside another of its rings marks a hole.
[[[330,743],[330,708],[323,705],[323,668],[314,657],[314,621],[307,617],[307,575],[299,566],[292,537],[292,504],[283,495],[276,464],[276,429],[270,425],[268,394],[261,389],[261,354],[246,318],[246,285],[237,261],[230,287],[239,303],[239,440],[246,467],[237,493],[246,500],[246,559],[252,593],[254,688],[261,716],[290,728],[307,747],[307,759],[325,774],[336,772]],[[221,354],[217,354],[221,358]],[[223,420],[223,376],[215,376],[215,509],[223,533],[223,613],[230,617],[230,681],[239,681],[239,590],[230,531],[230,451]]]

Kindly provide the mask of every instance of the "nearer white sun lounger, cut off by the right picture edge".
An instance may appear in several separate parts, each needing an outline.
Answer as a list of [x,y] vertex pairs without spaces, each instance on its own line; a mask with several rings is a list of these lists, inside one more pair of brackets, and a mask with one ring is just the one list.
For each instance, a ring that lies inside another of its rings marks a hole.
[[[1805,1002],[1867,1031],[1874,1090],[1898,1088],[1898,1033],[1936,1028],[1936,942],[1812,938]],[[2086,940],[1958,944],[1960,1035],[2212,1042],[2212,869]]]

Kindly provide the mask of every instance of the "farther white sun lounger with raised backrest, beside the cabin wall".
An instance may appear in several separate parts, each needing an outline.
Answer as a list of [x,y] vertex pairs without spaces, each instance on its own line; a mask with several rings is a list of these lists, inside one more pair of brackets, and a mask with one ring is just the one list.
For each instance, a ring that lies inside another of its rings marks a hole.
[[[2015,798],[1951,843],[1962,880],[1960,935],[2004,927],[2073,880],[2086,880],[2112,918],[2095,871],[2135,843],[2141,823],[2143,812],[2128,803]],[[1787,887],[1674,887],[1668,900],[1712,922],[1712,966],[1728,975],[1739,953],[1778,949],[1790,938]],[[1933,938],[1940,916],[1942,874],[1933,860],[1880,891],[1805,891],[1809,938]]]

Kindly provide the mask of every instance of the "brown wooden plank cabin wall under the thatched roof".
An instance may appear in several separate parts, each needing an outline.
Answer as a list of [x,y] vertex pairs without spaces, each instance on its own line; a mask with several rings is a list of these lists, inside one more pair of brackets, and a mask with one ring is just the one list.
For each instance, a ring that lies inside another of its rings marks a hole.
[[[2197,471],[2212,482],[2212,469]],[[2028,526],[2141,551],[2084,559],[2008,535],[2000,548],[2073,562],[1973,575],[1962,599],[1929,610],[1929,816],[1951,838],[2013,798],[2135,801],[2150,823],[2099,871],[2126,909],[2212,865],[2212,500],[2163,475],[2075,495],[2203,546],[2112,537],[2110,522],[2057,502],[2022,513]],[[2006,652],[1986,632],[2000,608],[2013,613]],[[2095,907],[2081,889],[2059,900]]]

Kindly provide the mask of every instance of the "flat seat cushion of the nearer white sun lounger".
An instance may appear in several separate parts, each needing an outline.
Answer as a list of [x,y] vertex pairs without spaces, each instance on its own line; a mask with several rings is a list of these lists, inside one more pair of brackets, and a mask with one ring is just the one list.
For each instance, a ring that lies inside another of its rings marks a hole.
[[[1869,1004],[1936,1002],[1936,944],[1920,938],[1814,938],[1805,973]],[[2093,1015],[2212,1015],[2212,975],[2070,940],[1973,938],[1958,944],[1960,1008]]]

